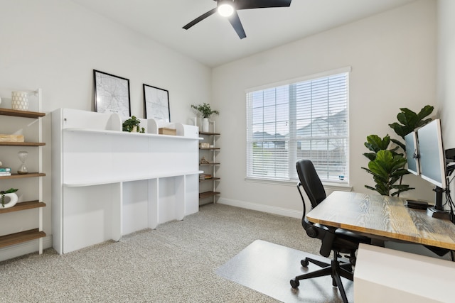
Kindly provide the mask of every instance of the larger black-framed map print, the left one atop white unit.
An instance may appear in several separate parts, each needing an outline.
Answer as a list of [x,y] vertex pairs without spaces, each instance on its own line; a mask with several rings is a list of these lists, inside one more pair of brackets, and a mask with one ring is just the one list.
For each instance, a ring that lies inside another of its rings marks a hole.
[[95,111],[131,116],[129,79],[93,70]]

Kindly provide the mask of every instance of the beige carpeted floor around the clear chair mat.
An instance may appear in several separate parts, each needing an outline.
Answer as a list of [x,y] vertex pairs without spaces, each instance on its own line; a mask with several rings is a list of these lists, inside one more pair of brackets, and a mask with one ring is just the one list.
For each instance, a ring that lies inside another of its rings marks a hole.
[[[119,242],[0,263],[1,302],[277,302],[216,274],[255,240],[318,254],[299,219],[223,204]],[[265,264],[264,266],[267,266]],[[287,273],[288,282],[301,271]],[[290,287],[289,287],[290,289]],[[314,294],[312,294],[312,297]],[[328,301],[330,302],[330,300]]]

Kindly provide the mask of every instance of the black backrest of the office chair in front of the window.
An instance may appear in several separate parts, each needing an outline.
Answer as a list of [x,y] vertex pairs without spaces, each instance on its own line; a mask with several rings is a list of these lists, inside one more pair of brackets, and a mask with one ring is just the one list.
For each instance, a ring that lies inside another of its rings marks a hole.
[[318,206],[327,196],[313,162],[306,159],[299,160],[296,162],[296,169],[300,183],[304,187],[306,195],[311,202],[311,207]]

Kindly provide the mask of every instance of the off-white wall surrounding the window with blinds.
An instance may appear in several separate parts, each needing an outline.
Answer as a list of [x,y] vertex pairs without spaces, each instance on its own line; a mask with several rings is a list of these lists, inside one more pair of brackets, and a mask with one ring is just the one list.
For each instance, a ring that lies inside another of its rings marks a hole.
[[[419,111],[435,104],[436,2],[421,0],[361,21],[313,35],[213,70],[213,107],[221,148],[220,202],[301,216],[295,189],[245,181],[245,89],[313,75],[340,67],[350,74],[350,186],[371,192],[372,177],[360,167],[368,160],[366,136],[395,136],[387,124],[400,107]],[[408,195],[433,199],[432,186],[418,177],[405,180],[419,189]]]

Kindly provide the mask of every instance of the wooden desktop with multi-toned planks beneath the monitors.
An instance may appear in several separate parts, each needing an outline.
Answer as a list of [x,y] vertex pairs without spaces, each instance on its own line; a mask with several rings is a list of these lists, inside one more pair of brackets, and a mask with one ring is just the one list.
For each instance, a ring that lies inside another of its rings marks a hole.
[[427,216],[426,211],[410,209],[405,199],[333,192],[306,217],[313,223],[455,250],[455,224]]

